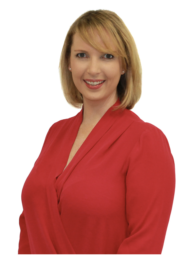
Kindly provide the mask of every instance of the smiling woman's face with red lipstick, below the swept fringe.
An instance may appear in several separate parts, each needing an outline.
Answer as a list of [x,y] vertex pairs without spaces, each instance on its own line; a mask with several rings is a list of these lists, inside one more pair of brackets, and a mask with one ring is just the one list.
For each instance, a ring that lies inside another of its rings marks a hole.
[[[97,37],[105,48],[98,34]],[[120,75],[124,74],[120,57],[97,51],[76,33],[73,36],[69,70],[84,102],[117,100],[117,85]]]

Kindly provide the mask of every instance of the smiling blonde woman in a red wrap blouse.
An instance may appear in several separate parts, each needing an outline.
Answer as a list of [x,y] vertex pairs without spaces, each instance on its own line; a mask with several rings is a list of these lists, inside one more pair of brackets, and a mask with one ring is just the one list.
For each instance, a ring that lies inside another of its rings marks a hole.
[[174,160],[163,132],[130,110],[141,95],[134,39],[115,13],[88,11],[59,67],[66,100],[82,110],[51,126],[27,177],[18,253],[161,254]]

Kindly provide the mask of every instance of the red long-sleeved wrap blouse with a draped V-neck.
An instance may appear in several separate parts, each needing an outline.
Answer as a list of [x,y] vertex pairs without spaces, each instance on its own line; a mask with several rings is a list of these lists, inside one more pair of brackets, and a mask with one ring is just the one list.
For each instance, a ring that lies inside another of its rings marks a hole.
[[167,138],[111,107],[64,170],[82,118],[46,135],[22,189],[18,253],[161,254],[175,191]]

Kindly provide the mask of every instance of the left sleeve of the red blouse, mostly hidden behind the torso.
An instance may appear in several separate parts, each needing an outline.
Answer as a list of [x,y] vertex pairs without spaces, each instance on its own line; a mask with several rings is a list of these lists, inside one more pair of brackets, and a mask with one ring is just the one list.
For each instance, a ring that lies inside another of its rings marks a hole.
[[[49,136],[51,128],[52,128],[52,126],[50,127],[49,131],[47,132],[47,135],[46,135],[46,138],[44,140],[44,144],[42,146],[42,149],[44,148],[44,145],[45,145],[46,140]],[[25,217],[24,217],[24,210],[22,211],[22,214],[20,215],[19,225],[20,225],[21,232],[20,232],[18,254],[31,254],[30,245],[29,245],[29,238],[28,238],[28,233],[27,233],[27,226],[26,226],[26,221],[25,221]]]

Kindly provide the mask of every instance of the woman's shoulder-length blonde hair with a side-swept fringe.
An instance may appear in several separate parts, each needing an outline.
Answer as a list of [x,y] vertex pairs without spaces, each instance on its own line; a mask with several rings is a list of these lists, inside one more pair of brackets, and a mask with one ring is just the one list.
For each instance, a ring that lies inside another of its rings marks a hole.
[[[109,37],[105,36],[105,32]],[[87,11],[74,21],[67,32],[59,64],[62,90],[67,102],[76,108],[82,108],[82,94],[77,90],[72,73],[68,69],[75,33],[94,49],[100,52],[108,50],[115,55],[116,52],[111,49],[108,38],[113,41],[118,49],[118,56],[122,59],[122,68],[125,70],[125,74],[121,75],[117,85],[121,104],[114,110],[132,109],[140,99],[142,89],[142,67],[139,54],[135,41],[124,22],[116,13],[108,10]],[[98,33],[102,39],[105,49],[93,36],[95,33]]]

